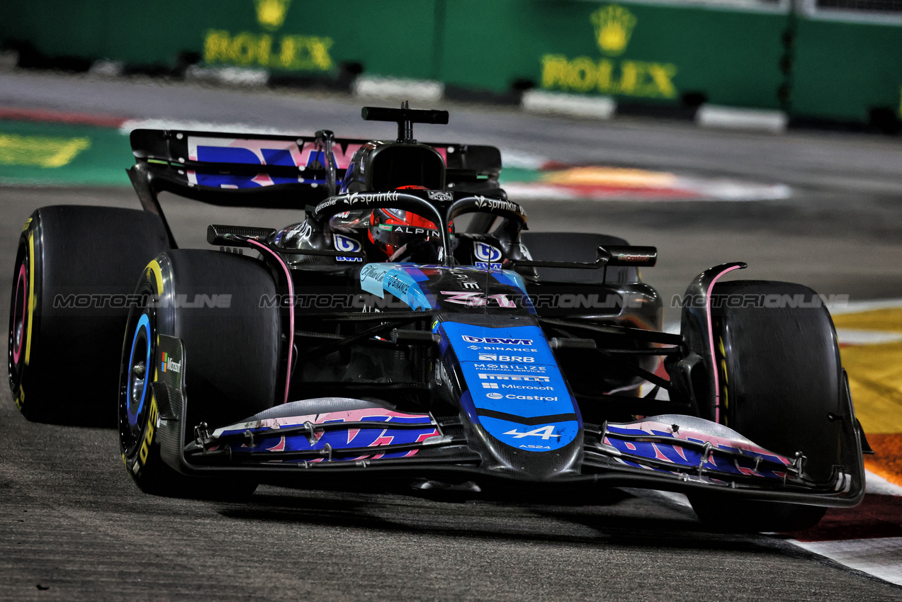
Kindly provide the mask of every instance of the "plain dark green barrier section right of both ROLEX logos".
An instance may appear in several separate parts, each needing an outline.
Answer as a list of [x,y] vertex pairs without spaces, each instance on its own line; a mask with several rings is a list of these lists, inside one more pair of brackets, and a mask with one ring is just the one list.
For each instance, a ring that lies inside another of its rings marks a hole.
[[902,117],[902,19],[850,23],[801,18],[791,113],[867,123]]

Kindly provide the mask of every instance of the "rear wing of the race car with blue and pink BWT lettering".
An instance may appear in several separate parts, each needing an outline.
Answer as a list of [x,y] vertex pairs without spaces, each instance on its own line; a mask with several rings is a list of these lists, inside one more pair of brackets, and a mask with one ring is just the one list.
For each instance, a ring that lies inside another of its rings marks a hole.
[[[134,130],[129,178],[145,209],[166,190],[212,205],[298,208],[336,194],[365,140],[176,130]],[[451,183],[498,187],[501,152],[492,146],[432,143]],[[154,206],[156,205],[156,206]],[[154,213],[158,213],[159,209]]]

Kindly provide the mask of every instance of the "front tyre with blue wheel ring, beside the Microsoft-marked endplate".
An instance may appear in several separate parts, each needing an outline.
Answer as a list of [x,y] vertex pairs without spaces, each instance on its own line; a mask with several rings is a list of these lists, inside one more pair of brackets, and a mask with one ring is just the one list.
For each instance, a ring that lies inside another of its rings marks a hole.
[[[259,260],[231,253],[168,251],[147,265],[135,293],[147,301],[128,316],[120,361],[125,469],[138,487],[155,495],[250,495],[253,482],[189,478],[163,461],[152,383],[161,370],[182,372],[188,409],[181,419],[189,438],[201,422],[212,432],[271,407],[280,373],[281,322],[277,307],[261,303],[276,295],[269,270]],[[163,334],[182,342],[179,365],[158,350]]]

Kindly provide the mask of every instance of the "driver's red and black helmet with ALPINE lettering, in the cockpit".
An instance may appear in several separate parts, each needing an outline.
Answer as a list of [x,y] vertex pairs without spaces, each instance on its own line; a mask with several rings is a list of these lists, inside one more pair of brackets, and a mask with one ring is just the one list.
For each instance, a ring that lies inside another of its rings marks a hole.
[[[422,186],[402,186],[398,190],[427,190]],[[454,233],[453,223],[448,224],[448,233]],[[435,223],[403,209],[381,207],[370,214],[370,242],[384,255],[384,260],[395,261],[411,258],[428,263],[441,260],[441,237]]]

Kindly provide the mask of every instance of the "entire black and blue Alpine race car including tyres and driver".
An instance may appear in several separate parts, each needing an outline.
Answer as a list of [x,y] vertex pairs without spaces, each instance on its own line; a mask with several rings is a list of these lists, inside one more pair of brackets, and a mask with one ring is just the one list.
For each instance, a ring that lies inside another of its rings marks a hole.
[[[159,495],[652,488],[756,530],[861,501],[867,442],[814,291],[722,282],[745,267],[727,263],[662,332],[639,271],[655,248],[529,231],[499,150],[413,139],[444,111],[363,116],[397,140],[135,130],[143,211],[32,214],[10,314],[23,414],[84,422],[118,398],[125,469]],[[161,191],[305,219],[179,249]]]

